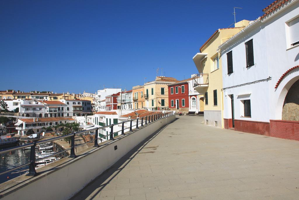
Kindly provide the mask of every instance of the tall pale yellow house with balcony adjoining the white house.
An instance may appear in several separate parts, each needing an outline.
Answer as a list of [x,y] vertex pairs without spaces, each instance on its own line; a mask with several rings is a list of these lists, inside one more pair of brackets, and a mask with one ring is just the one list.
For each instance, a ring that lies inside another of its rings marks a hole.
[[217,52],[218,46],[241,31],[248,22],[242,20],[236,23],[234,28],[216,30],[200,47],[200,53],[193,57],[200,74],[195,89],[204,94],[205,124],[223,128],[222,63]]

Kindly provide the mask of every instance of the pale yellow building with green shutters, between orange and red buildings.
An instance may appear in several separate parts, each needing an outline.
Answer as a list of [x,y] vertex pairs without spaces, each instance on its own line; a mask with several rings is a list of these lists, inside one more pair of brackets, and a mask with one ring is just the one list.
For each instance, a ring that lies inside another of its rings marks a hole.
[[154,81],[144,84],[145,107],[149,110],[155,108],[168,108],[168,85],[178,80],[171,77],[157,76]]

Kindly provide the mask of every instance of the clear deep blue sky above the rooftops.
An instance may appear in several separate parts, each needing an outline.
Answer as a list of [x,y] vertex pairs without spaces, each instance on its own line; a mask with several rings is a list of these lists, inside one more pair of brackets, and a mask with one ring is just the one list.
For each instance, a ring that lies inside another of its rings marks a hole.
[[[131,89],[198,73],[192,57],[218,28],[271,1],[1,1],[0,90]],[[161,70],[159,70],[161,75]]]

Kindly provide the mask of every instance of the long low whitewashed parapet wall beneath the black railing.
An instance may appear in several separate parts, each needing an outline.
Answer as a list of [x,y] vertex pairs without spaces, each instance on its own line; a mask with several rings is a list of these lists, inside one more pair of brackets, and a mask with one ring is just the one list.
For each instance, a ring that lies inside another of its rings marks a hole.
[[0,184],[0,199],[70,199],[144,139],[175,118],[172,115],[159,119],[99,148],[90,147],[78,152],[77,158],[63,158],[51,163],[42,167],[44,169],[40,170],[43,172],[36,177],[22,175]]

